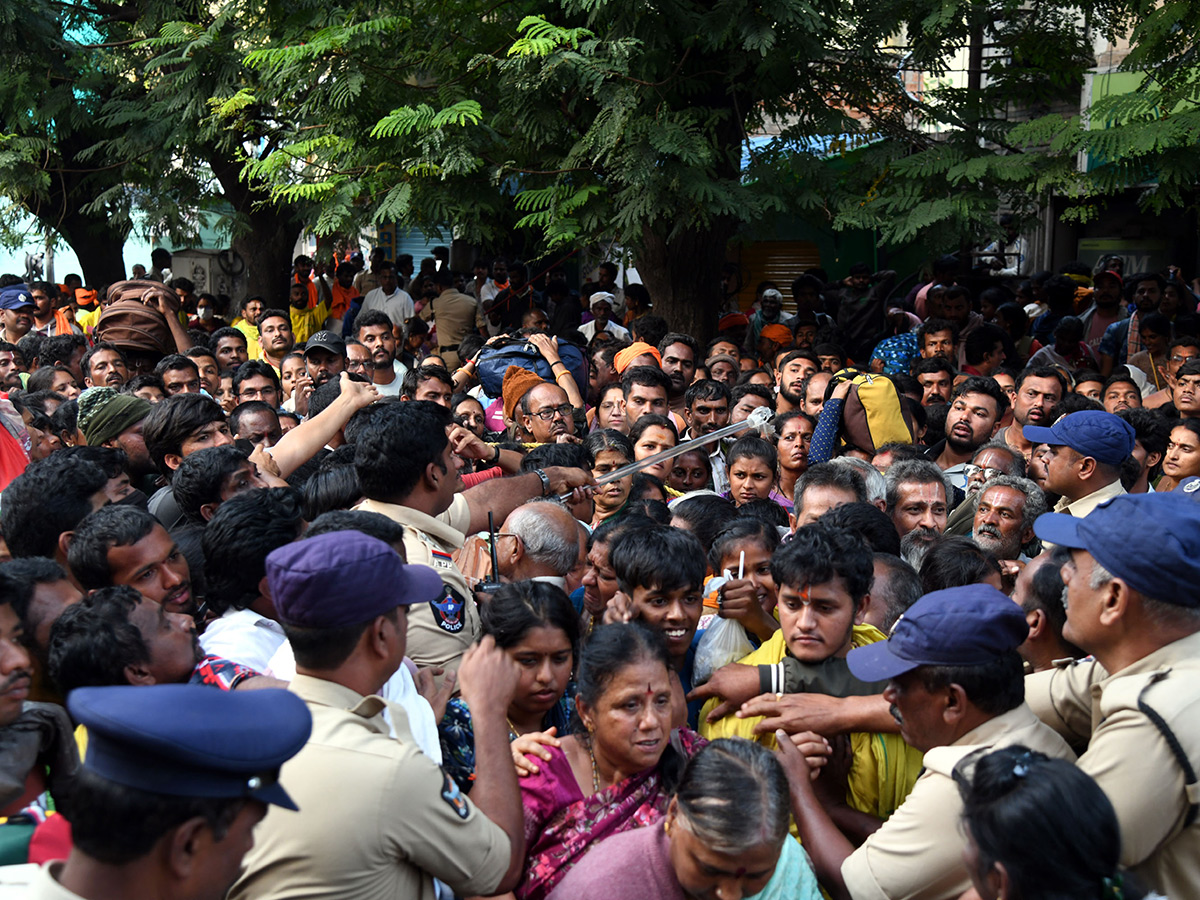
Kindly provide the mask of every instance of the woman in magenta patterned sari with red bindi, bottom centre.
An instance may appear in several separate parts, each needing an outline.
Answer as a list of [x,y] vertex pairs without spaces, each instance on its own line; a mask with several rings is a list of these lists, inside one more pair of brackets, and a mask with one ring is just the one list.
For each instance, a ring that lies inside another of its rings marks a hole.
[[661,822],[684,763],[703,739],[671,727],[666,643],[637,624],[605,625],[580,661],[582,727],[546,746],[521,782],[526,875],[520,900],[542,900],[594,844]]

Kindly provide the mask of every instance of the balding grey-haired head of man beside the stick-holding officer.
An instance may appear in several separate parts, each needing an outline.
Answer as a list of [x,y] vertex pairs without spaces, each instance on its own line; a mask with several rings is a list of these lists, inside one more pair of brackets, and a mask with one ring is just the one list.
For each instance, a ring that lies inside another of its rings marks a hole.
[[505,581],[565,577],[580,556],[575,517],[557,503],[527,503],[504,520],[497,538],[500,576]]

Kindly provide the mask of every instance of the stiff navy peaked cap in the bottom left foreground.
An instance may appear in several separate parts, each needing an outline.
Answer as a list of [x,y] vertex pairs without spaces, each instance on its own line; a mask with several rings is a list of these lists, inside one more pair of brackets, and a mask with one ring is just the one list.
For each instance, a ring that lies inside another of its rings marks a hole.
[[88,727],[84,767],[108,781],[298,809],[278,784],[280,767],[312,732],[308,707],[295,694],[199,684],[79,688],[67,708]]

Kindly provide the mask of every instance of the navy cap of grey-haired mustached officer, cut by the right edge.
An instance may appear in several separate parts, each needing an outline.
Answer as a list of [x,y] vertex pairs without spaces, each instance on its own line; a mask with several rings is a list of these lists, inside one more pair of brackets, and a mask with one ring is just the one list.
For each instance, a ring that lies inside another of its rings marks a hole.
[[1033,530],[1061,547],[1086,550],[1153,600],[1200,606],[1200,505],[1190,494],[1121,494],[1082,518],[1044,512]]

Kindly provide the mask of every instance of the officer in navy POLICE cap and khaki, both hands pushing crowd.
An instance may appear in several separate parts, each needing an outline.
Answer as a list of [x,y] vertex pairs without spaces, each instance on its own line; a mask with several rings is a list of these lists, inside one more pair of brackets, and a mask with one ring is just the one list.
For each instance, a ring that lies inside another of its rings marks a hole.
[[[994,587],[968,584],[925,594],[887,641],[850,652],[846,661],[856,678],[888,682],[883,697],[901,737],[925,754],[924,773],[883,823],[848,810],[840,799],[823,800],[844,798],[845,785],[815,787],[804,757],[779,733],[793,773],[788,782],[800,841],[832,896],[960,896],[971,878],[962,865],[962,800],[954,767],[973,754],[1018,744],[1074,758],[1024,702],[1016,648],[1028,630],[1016,604]],[[827,772],[818,781],[832,778]],[[857,850],[851,839],[860,841]]]

